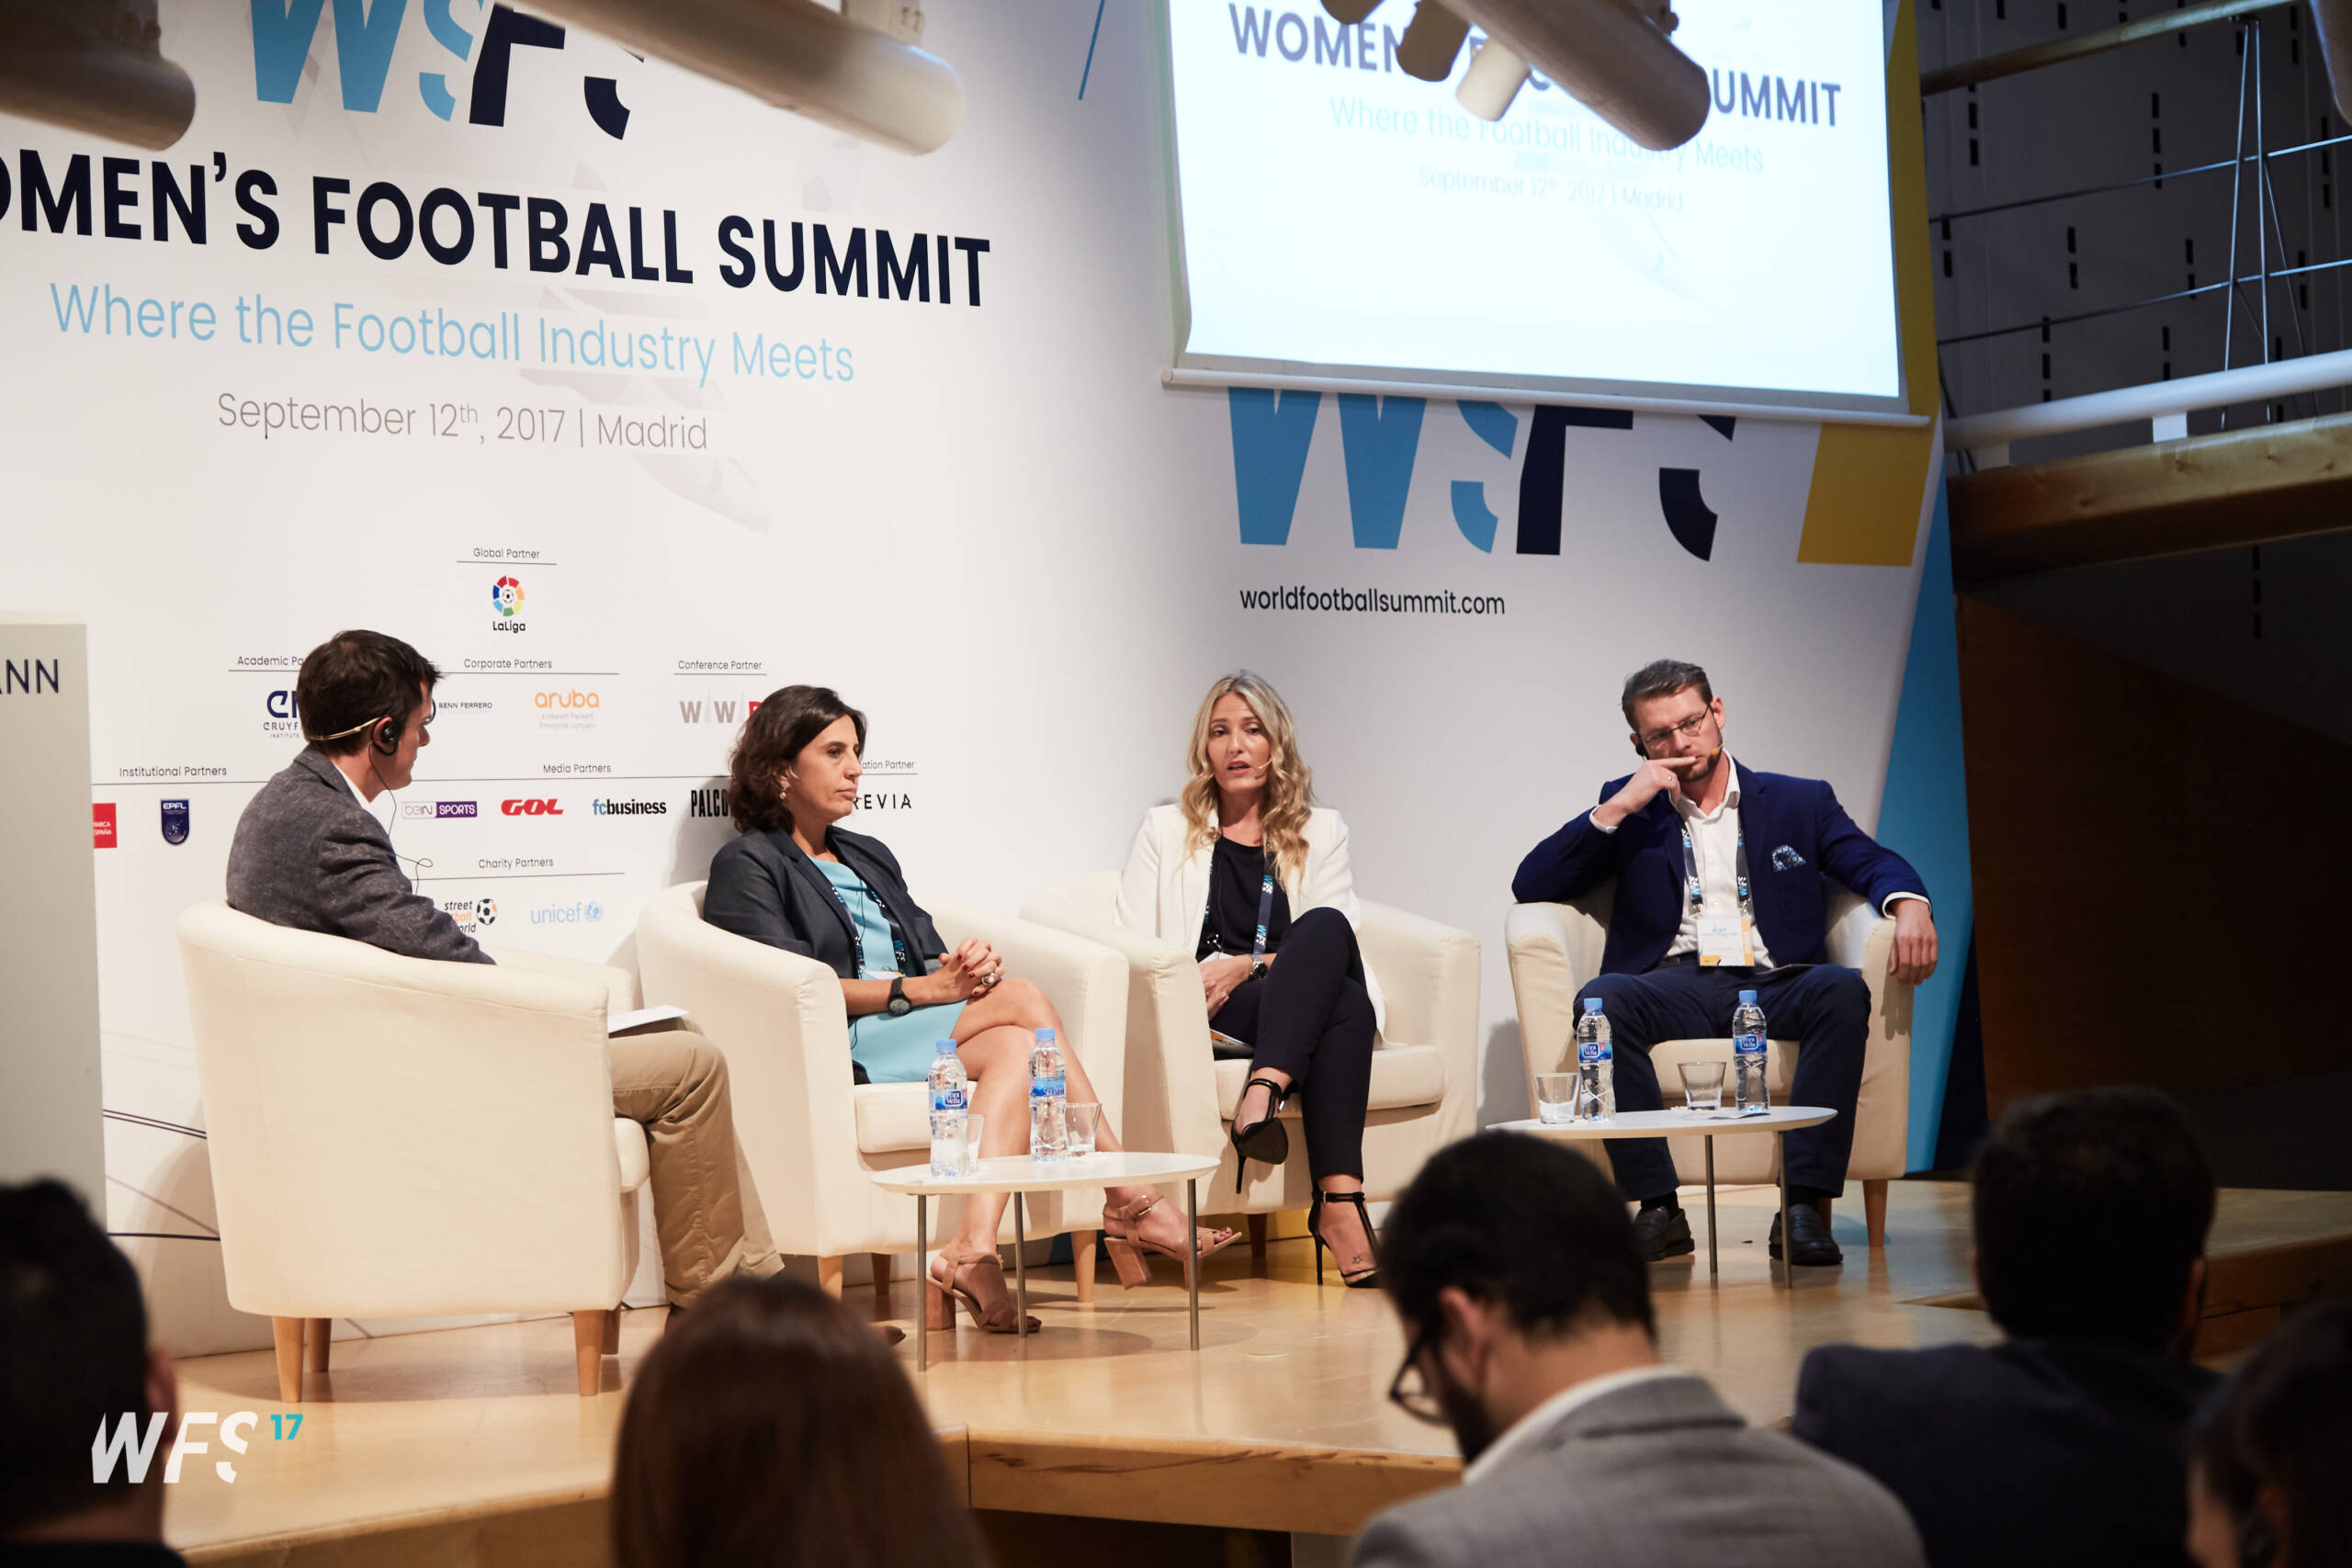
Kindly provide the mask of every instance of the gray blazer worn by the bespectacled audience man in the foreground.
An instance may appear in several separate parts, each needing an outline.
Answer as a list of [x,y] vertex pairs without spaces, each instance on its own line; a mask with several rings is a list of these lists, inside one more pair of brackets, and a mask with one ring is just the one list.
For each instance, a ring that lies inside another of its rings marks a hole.
[[1750,1427],[1705,1378],[1578,1406],[1470,1486],[1374,1519],[1357,1568],[1922,1568],[1893,1493]]

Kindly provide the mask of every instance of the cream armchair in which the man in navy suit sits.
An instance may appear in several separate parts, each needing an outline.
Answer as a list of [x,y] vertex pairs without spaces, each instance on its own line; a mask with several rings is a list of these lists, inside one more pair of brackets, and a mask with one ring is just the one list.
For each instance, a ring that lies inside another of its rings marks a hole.
[[[1863,1218],[1870,1246],[1886,1246],[1886,1182],[1905,1171],[1910,1126],[1910,1020],[1912,987],[1886,973],[1896,924],[1842,886],[1828,893],[1830,961],[1863,971],[1870,985],[1870,1032],[1863,1046],[1863,1093],[1853,1107],[1853,1157],[1846,1180],[1863,1182]],[[1616,884],[1569,903],[1522,903],[1510,910],[1503,936],[1510,947],[1510,990],[1519,1001],[1519,1048],[1526,1056],[1526,1100],[1536,1103],[1536,1074],[1562,1072],[1576,1046],[1576,992],[1602,971],[1609,910]],[[1785,1103],[1797,1072],[1797,1046],[1764,1041],[1764,1081]],[[1668,1039],[1649,1053],[1668,1105],[1682,1103],[1682,1063],[1731,1060],[1731,1037]],[[1576,1145],[1606,1159],[1595,1145]],[[1675,1175],[1705,1180],[1698,1138],[1668,1138]],[[1715,1178],[1719,1182],[1780,1180],[1778,1140],[1764,1133],[1717,1133]]]

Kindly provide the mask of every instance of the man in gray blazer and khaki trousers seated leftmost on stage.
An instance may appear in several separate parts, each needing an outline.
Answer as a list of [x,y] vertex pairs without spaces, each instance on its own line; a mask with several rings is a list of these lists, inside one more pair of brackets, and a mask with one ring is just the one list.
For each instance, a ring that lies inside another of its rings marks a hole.
[[[430,745],[435,682],[440,670],[423,654],[383,632],[336,632],[310,649],[294,679],[308,745],[238,818],[228,907],[412,959],[494,961],[409,886],[367,809],[407,788],[416,752]],[[783,1269],[736,1147],[717,1046],[691,1030],[612,1041],[612,1110],[644,1124],[673,1307],[731,1274]]]

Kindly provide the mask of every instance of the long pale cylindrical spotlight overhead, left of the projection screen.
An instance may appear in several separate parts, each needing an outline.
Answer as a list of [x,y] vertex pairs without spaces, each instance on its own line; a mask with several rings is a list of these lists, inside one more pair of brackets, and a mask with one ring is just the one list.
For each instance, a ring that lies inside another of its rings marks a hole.
[[534,0],[532,9],[901,153],[946,146],[964,120],[955,66],[910,42],[922,38],[922,5],[910,0],[856,0],[849,14],[814,0]]

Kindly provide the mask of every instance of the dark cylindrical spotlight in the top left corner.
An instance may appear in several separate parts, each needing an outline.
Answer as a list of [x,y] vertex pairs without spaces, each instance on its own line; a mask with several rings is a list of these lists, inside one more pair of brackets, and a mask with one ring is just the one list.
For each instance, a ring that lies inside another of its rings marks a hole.
[[162,150],[195,118],[195,82],[162,56],[155,0],[7,0],[0,110]]

